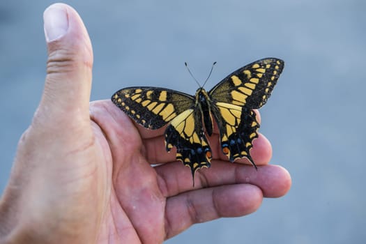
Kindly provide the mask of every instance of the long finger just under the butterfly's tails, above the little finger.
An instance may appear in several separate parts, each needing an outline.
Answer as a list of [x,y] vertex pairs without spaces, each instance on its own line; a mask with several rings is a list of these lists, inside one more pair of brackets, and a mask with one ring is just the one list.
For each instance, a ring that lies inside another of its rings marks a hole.
[[[182,169],[181,164],[171,162],[155,167],[161,178],[161,189],[165,197],[171,197],[192,190],[190,170]],[[277,165],[259,166],[255,170],[251,165],[241,165],[214,160],[209,169],[200,169],[195,174],[195,189],[218,185],[247,183],[257,185],[264,197],[281,197],[291,187],[289,172]]]

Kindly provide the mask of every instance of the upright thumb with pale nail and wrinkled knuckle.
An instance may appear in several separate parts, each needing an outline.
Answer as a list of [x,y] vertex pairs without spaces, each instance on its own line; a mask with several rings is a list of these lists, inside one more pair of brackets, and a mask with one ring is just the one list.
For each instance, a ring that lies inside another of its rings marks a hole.
[[84,23],[63,3],[49,6],[43,20],[48,60],[38,115],[56,123],[89,121],[93,51]]

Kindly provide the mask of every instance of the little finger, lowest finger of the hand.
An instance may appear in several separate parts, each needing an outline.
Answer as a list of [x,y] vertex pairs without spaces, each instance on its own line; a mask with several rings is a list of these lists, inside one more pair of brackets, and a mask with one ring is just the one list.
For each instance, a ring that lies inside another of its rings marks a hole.
[[255,185],[225,185],[185,192],[167,199],[165,226],[167,238],[190,227],[192,224],[222,217],[238,217],[259,208],[263,199]]

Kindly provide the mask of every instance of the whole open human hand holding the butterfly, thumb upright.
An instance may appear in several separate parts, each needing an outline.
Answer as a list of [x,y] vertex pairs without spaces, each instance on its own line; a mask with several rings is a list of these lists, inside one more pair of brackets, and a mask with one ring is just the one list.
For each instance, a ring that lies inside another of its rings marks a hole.
[[0,242],[161,243],[197,222],[252,213],[263,197],[289,190],[287,171],[268,165],[263,135],[251,151],[258,171],[246,160],[228,162],[213,135],[219,156],[192,188],[190,170],[165,152],[164,129],[135,125],[109,100],[89,104],[93,54],[75,10],[48,8],[45,32],[45,90],[1,198]]

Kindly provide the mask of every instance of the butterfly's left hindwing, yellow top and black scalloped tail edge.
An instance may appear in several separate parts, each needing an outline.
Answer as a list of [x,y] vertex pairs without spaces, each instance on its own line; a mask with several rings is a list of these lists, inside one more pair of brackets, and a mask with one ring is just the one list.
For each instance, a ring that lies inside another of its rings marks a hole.
[[176,159],[190,167],[193,178],[197,169],[211,166],[211,148],[199,110],[187,109],[176,116],[165,130],[165,143],[167,151],[176,147]]

